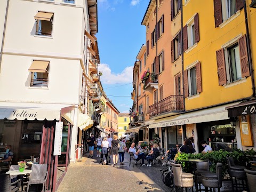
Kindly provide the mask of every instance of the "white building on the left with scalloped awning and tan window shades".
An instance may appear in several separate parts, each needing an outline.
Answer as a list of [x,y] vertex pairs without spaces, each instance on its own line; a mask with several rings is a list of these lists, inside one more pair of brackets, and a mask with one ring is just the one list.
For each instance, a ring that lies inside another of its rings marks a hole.
[[[52,163],[67,170],[75,160],[97,32],[97,0],[0,1],[0,144],[12,145],[13,162],[34,155],[49,170]],[[61,155],[54,157],[58,121]],[[55,191],[57,172],[49,180]]]

